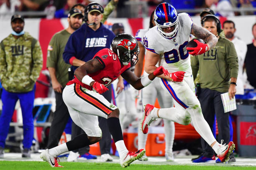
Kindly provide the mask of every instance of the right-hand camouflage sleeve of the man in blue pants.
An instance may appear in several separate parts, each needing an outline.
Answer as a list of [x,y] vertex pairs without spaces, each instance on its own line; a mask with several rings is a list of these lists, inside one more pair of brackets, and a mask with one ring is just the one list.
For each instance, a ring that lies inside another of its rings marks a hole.
[[32,51],[33,67],[31,70],[30,79],[36,82],[43,67],[43,53],[41,50],[40,43],[37,41]]

